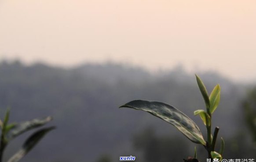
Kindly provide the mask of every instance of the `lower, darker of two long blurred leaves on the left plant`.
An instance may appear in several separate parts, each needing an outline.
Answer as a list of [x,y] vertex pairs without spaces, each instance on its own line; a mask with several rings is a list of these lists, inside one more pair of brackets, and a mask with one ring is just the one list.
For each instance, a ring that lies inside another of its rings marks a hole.
[[22,145],[22,148],[13,155],[7,162],[18,162],[22,157],[24,157],[49,131],[55,129],[55,127],[48,127],[38,130],[36,133],[32,134]]

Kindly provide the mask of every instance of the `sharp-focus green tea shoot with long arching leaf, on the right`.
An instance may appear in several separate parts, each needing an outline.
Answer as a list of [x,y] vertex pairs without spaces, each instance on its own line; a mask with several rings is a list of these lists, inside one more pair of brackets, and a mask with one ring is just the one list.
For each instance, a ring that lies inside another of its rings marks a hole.
[[[197,124],[191,120],[187,115],[176,109],[174,106],[168,105],[163,102],[157,101],[145,101],[145,100],[133,100],[120,106],[119,108],[132,108],[146,111],[158,118],[165,120],[166,122],[172,124],[181,133],[183,133],[190,141],[201,144],[208,153],[208,158],[218,158],[219,161],[222,160],[223,150],[224,150],[224,140],[221,137],[221,147],[219,151],[216,151],[215,144],[219,132],[219,127],[216,127],[212,134],[212,114],[215,112],[219,105],[220,100],[220,86],[216,85],[211,94],[205,88],[205,85],[200,77],[196,75],[197,85],[201,92],[201,95],[205,101],[205,110],[198,109],[194,111],[194,115],[199,115],[203,123],[205,124],[207,130],[206,140],[203,137]],[[195,148],[194,159],[197,158],[197,151]]]

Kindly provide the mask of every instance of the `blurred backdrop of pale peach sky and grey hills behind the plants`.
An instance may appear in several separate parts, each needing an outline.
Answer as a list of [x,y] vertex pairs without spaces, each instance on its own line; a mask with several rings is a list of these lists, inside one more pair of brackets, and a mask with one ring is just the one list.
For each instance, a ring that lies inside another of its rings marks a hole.
[[222,88],[213,126],[224,157],[256,158],[255,20],[255,0],[0,0],[0,117],[9,106],[11,121],[51,115],[58,127],[22,162],[193,156],[195,144],[168,123],[118,107],[166,102],[205,134],[195,73],[208,91]]

